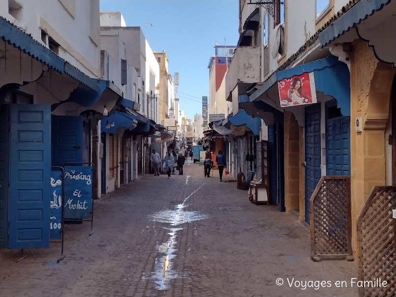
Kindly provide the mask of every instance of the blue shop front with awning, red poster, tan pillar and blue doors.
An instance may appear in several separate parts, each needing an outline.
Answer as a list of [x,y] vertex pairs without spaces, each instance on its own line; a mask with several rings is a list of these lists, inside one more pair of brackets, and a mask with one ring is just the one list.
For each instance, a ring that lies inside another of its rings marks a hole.
[[278,184],[284,182],[284,194],[278,187],[277,195],[282,193],[286,211],[309,224],[319,179],[350,175],[349,69],[330,56],[277,71],[251,91],[249,101],[241,103],[267,123],[269,143],[271,134],[277,134],[276,145],[283,142],[283,153],[275,149],[278,164],[284,163],[276,166],[284,175],[284,181],[277,175]]

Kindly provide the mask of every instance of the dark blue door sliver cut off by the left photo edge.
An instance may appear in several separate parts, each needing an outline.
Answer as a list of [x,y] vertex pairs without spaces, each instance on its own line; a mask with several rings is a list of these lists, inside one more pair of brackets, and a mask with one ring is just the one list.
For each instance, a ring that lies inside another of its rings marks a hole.
[[0,107],[0,247],[8,247],[8,109]]

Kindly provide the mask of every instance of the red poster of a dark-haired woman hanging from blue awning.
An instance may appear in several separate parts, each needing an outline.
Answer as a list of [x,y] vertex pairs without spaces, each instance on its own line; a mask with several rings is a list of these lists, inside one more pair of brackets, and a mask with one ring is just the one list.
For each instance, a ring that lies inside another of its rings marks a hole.
[[284,78],[278,82],[281,107],[316,103],[313,72]]

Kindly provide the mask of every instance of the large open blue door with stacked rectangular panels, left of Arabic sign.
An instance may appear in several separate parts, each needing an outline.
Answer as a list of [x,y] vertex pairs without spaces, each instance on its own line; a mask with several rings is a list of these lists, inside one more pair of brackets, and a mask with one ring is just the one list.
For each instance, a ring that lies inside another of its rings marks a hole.
[[51,106],[10,105],[9,248],[50,245]]

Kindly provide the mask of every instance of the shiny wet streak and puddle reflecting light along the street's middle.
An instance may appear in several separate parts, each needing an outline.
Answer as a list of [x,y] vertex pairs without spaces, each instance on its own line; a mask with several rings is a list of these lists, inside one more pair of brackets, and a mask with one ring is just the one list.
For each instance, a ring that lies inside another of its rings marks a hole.
[[[188,206],[186,205],[187,200],[203,187],[203,185],[184,199],[182,204],[175,206],[174,210],[159,211],[148,216],[148,219],[159,223],[168,223],[171,226],[177,226],[207,218],[206,215],[200,214],[198,211],[184,210],[184,208]],[[175,249],[175,245],[177,243],[177,232],[183,230],[183,228],[165,229],[170,230],[170,233],[168,233],[170,238],[166,242],[156,246],[158,257],[155,259],[154,272],[151,273],[151,279],[154,280],[156,289],[160,291],[169,289],[170,281],[177,277],[176,270],[172,268],[172,260],[176,257],[177,250]]]

